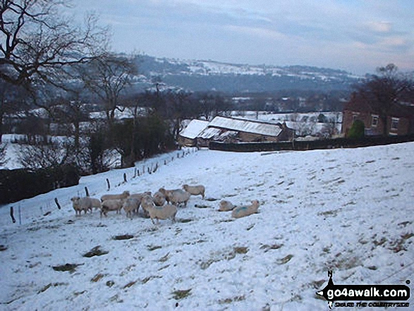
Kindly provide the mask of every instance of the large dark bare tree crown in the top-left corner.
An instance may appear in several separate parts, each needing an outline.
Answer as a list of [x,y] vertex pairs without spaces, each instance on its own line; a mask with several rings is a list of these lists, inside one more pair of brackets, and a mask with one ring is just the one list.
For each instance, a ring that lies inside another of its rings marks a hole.
[[63,9],[67,0],[0,0],[0,79],[30,87],[55,83],[68,66],[85,63],[106,48],[96,16],[78,26]]

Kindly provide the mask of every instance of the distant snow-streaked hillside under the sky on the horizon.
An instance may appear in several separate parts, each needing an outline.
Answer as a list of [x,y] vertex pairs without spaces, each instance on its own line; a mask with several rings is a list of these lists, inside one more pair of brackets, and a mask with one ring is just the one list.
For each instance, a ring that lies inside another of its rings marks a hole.
[[360,77],[346,71],[309,66],[250,66],[218,61],[182,61],[138,56],[139,87],[155,82],[185,90],[274,92],[278,90],[348,90]]

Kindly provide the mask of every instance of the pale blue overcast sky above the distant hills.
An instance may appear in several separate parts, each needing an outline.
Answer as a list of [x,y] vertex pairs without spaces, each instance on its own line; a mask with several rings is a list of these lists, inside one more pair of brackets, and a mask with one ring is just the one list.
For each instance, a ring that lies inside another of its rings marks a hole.
[[373,73],[414,69],[413,0],[74,0],[115,51]]

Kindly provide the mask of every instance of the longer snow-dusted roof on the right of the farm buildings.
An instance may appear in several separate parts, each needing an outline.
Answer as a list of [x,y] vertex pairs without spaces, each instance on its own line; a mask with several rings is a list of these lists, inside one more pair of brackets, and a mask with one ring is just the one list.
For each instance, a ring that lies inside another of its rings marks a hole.
[[209,128],[224,128],[245,133],[255,133],[260,135],[277,136],[281,128],[276,124],[241,120],[235,118],[223,118],[217,116],[209,123]]

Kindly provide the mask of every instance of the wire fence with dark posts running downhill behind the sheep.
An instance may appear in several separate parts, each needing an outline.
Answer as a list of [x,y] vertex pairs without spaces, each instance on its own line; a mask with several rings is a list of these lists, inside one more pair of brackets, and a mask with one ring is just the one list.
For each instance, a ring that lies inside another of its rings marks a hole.
[[[197,148],[185,148],[168,154],[162,154],[153,159],[146,159],[140,162],[138,166],[130,169],[114,169],[99,176],[85,176],[81,179],[80,185],[70,188],[60,188],[53,193],[39,195],[33,199],[22,200],[13,204],[5,205],[0,208],[0,224],[28,224],[32,217],[42,217],[51,214],[59,207],[71,206],[71,197],[83,197],[87,195],[97,195],[105,191],[117,188],[135,181],[145,175],[159,173],[162,166],[171,164],[171,162],[193,154]],[[99,181],[97,182],[97,178]]]

